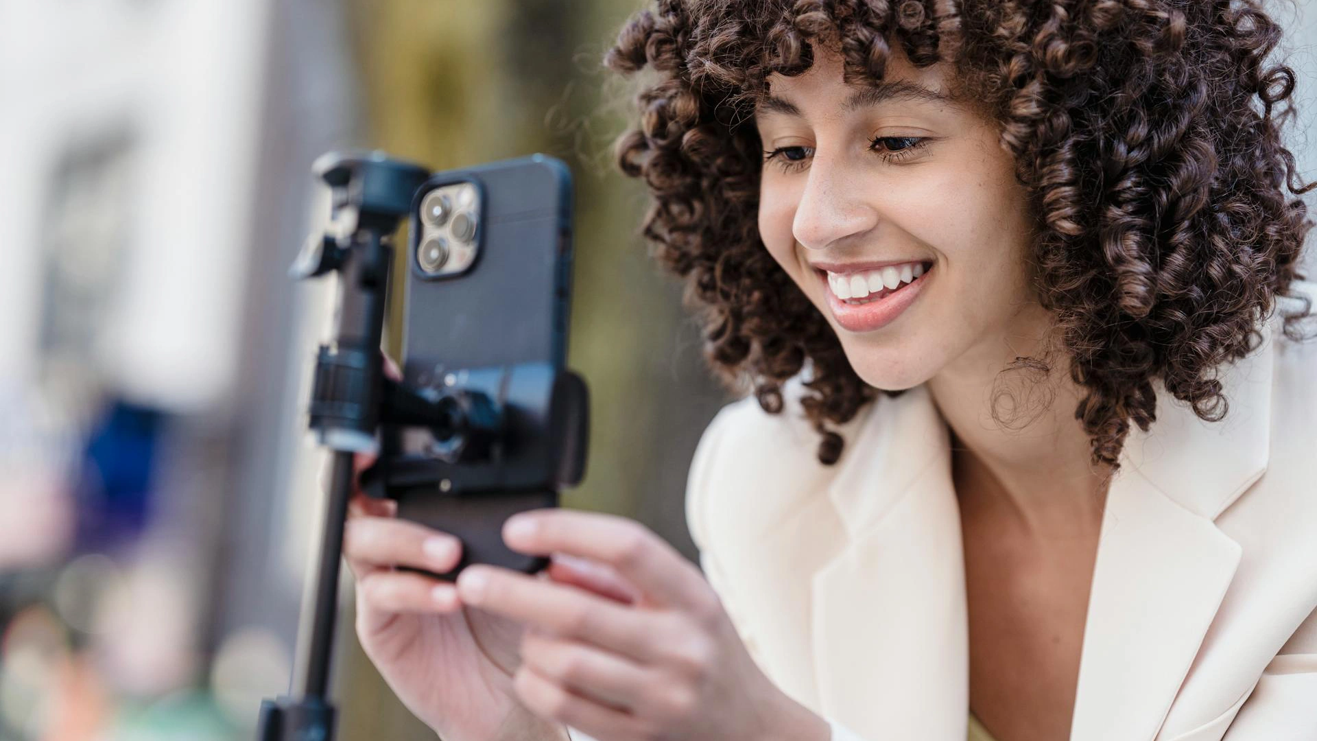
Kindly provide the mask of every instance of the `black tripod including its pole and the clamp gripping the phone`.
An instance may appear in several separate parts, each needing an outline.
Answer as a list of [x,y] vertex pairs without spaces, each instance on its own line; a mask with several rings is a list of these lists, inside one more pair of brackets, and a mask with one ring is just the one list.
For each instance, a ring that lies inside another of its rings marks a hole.
[[[288,695],[261,704],[259,741],[333,738],[329,654],[354,454],[381,452],[363,475],[363,489],[399,501],[399,516],[437,516],[454,533],[465,530],[464,564],[527,572],[544,568],[548,559],[508,551],[498,537],[499,525],[520,509],[556,502],[557,488],[579,481],[585,467],[586,385],[553,361],[461,369],[445,374],[443,388],[419,377],[414,388],[383,376],[379,341],[391,235],[407,215],[415,232],[431,173],[381,153],[329,153],[313,170],[331,189],[332,215],[290,273],[340,278],[333,340],[320,347],[309,405],[309,427],[333,451],[333,464],[292,684]],[[428,429],[433,444],[425,455],[407,458],[398,450],[402,427]],[[377,436],[381,429],[385,434]],[[456,570],[449,576],[456,578]]]

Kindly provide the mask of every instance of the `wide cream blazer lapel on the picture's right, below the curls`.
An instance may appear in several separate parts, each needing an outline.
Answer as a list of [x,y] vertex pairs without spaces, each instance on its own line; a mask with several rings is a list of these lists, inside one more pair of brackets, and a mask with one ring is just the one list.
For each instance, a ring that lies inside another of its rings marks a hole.
[[1148,741],[1166,728],[1239,563],[1214,519],[1266,471],[1271,331],[1221,374],[1222,422],[1204,422],[1158,384],[1156,422],[1135,429],[1102,516],[1072,741]]

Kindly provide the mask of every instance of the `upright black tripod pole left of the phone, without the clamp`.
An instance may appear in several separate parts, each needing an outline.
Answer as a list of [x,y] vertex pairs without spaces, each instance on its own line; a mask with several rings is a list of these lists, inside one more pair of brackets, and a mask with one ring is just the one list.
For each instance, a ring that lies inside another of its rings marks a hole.
[[382,396],[381,336],[391,264],[390,235],[411,207],[424,167],[381,154],[327,154],[316,173],[332,189],[338,233],[313,239],[292,266],[294,277],[337,272],[333,341],[320,347],[311,392],[309,426],[333,451],[317,555],[303,595],[290,694],[261,704],[258,741],[332,741],[329,662],[338,609],[338,563],[353,456],[375,450]]

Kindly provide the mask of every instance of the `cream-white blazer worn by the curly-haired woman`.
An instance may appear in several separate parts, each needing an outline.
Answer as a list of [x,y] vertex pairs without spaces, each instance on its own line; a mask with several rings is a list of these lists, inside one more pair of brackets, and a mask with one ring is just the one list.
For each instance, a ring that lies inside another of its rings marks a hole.
[[[1305,287],[1310,294],[1313,286]],[[1317,341],[1223,369],[1208,423],[1158,385],[1102,516],[1072,741],[1317,740]],[[925,386],[814,458],[798,380],[701,438],[686,516],[764,672],[834,741],[964,741],[968,630],[948,430]]]

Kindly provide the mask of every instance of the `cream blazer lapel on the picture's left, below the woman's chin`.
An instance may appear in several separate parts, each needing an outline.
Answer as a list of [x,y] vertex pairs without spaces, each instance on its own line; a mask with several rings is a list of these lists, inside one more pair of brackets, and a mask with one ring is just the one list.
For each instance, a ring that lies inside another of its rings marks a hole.
[[917,386],[880,398],[848,446],[827,493],[849,541],[813,580],[822,712],[868,738],[961,741],[968,633],[946,423]]

